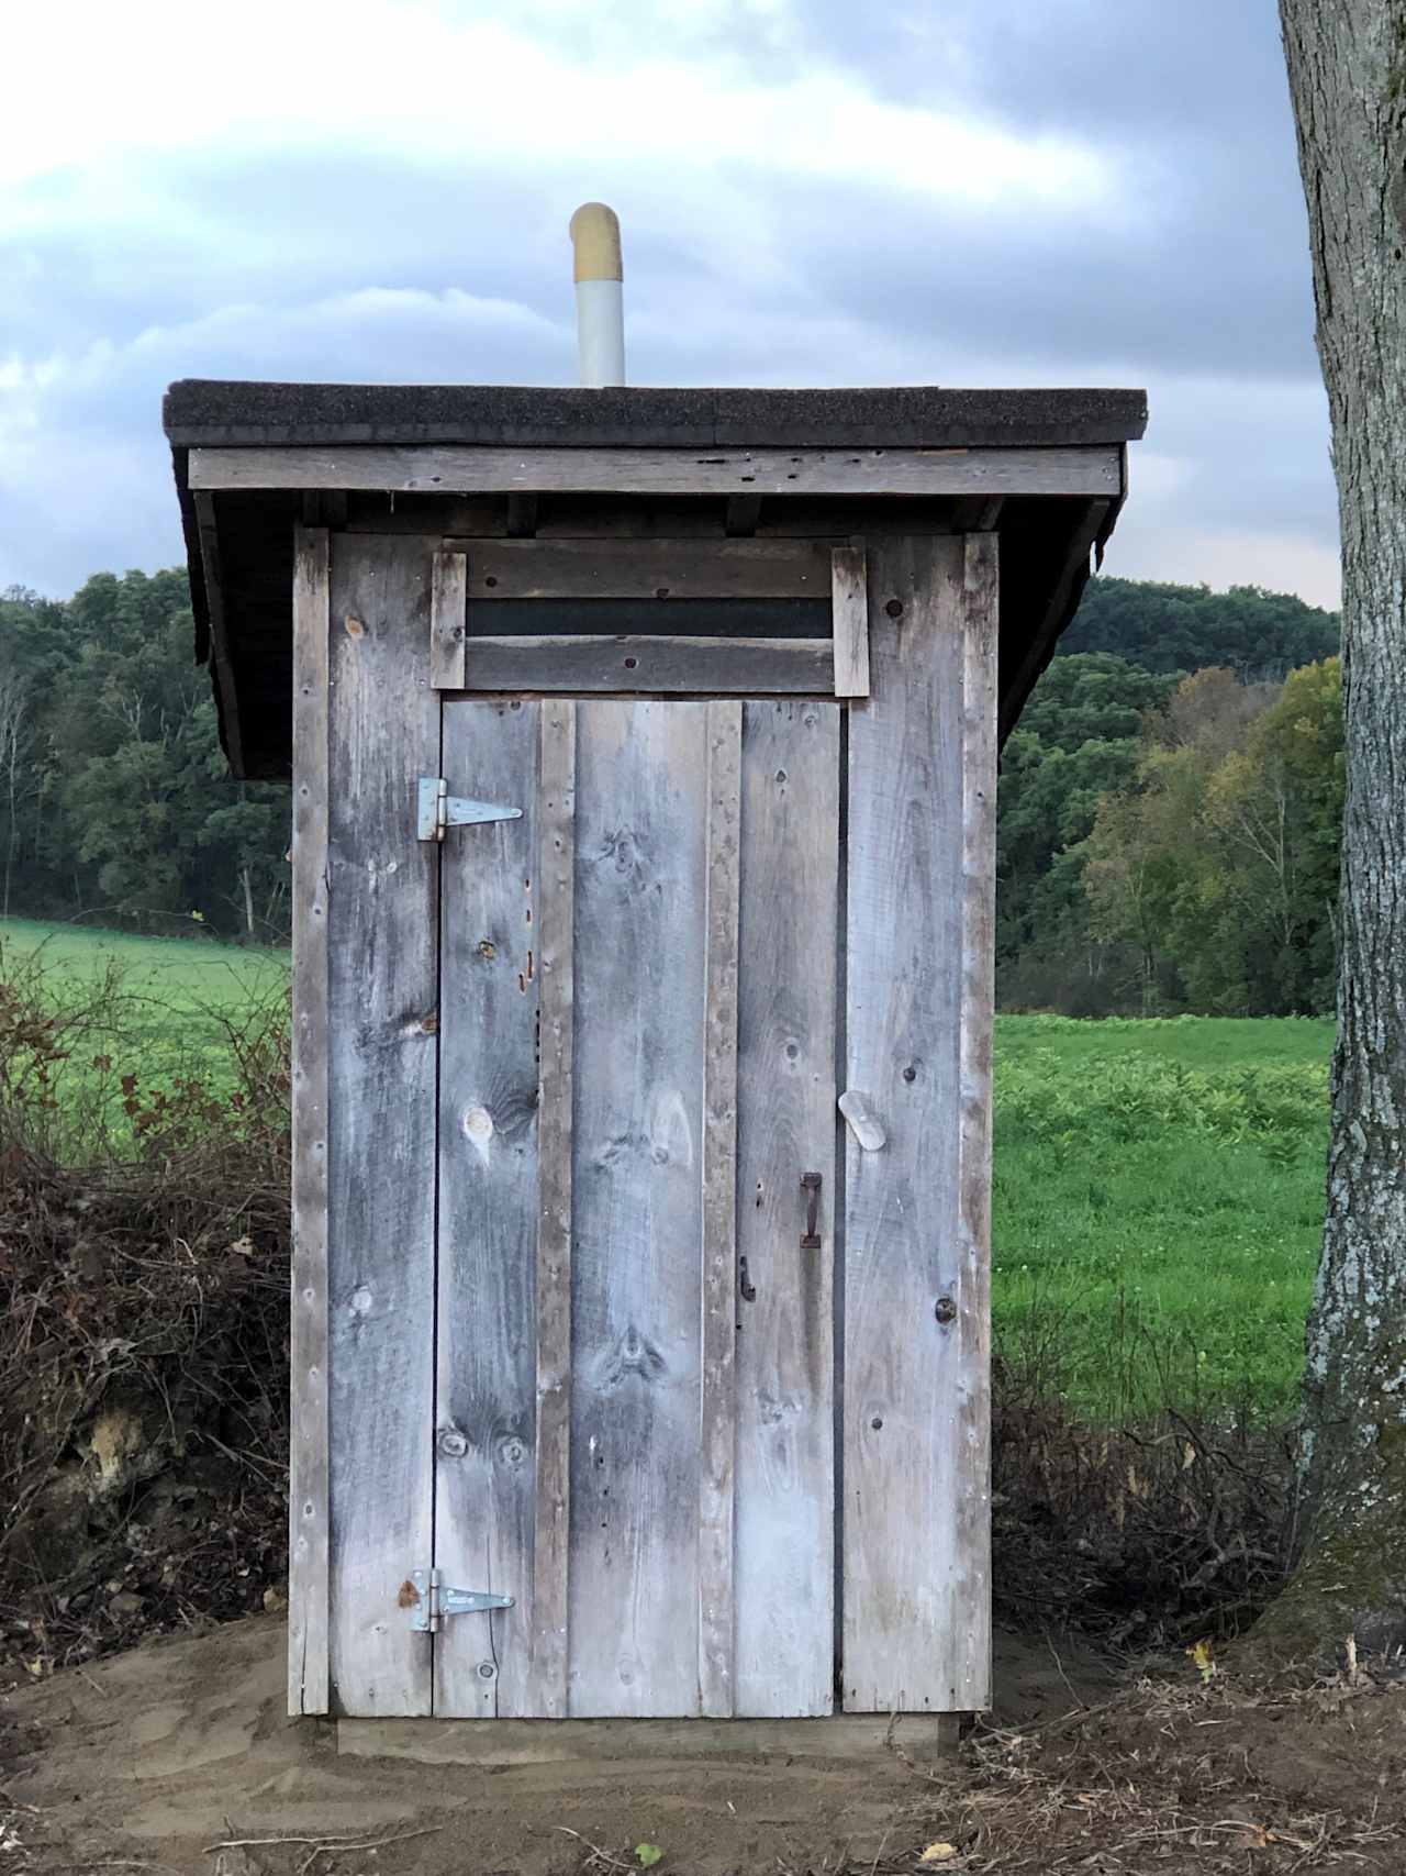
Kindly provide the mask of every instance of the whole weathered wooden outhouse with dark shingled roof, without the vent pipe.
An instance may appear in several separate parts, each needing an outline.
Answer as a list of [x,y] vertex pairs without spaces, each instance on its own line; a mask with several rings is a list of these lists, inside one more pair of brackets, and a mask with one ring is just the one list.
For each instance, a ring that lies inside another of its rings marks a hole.
[[988,1705],[997,747],[1144,418],[172,385],[292,782],[294,1713]]

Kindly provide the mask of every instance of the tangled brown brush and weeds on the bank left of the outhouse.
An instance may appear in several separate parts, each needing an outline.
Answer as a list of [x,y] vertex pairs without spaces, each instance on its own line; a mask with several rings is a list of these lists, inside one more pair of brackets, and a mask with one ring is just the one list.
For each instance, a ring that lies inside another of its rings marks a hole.
[[[120,974],[0,992],[0,1613],[30,1670],[283,1574],[287,1011],[221,1013],[221,1073],[154,1086]],[[11,1613],[13,1611],[13,1613]]]

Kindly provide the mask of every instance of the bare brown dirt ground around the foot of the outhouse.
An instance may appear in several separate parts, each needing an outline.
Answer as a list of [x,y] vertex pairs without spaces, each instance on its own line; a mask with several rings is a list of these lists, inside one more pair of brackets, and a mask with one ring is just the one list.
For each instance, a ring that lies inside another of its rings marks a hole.
[[484,1773],[337,1758],[330,1724],[285,1718],[283,1625],[253,1617],[4,1696],[0,1876],[606,1876],[641,1844],[660,1876],[1406,1870],[1395,1670],[1252,1694],[1005,1636],[997,1688],[937,1771],[900,1730],[879,1763]]

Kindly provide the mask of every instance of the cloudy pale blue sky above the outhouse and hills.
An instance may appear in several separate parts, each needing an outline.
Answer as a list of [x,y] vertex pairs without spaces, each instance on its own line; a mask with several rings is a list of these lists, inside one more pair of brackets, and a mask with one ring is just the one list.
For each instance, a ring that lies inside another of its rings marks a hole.
[[176,377],[1132,385],[1106,570],[1337,604],[1273,0],[66,0],[6,21],[0,589],[180,559]]

